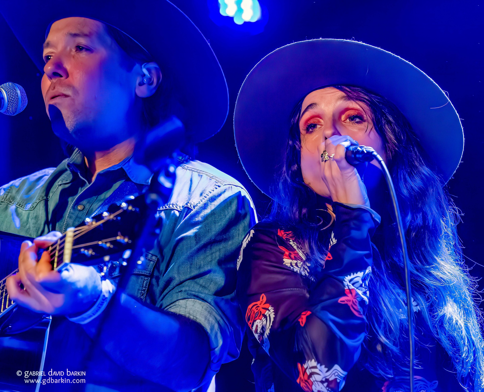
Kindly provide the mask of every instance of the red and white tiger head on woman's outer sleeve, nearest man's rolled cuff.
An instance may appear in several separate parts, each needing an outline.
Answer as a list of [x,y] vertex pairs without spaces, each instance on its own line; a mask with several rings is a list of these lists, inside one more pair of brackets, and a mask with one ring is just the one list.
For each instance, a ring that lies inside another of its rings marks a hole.
[[245,312],[245,321],[266,352],[269,350],[269,332],[274,317],[274,308],[266,303],[265,294],[261,294],[259,301],[252,302]]

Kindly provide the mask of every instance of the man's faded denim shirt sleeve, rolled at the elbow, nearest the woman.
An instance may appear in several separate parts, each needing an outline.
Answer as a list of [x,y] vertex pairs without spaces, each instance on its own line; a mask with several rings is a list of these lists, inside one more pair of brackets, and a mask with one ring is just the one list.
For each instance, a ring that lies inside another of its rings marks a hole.
[[[193,208],[192,208],[193,207]],[[242,315],[234,291],[236,262],[247,230],[256,223],[252,201],[236,185],[221,185],[196,206],[160,212],[162,260],[153,287],[156,306],[197,321],[207,332],[210,381],[222,363],[239,356]]]

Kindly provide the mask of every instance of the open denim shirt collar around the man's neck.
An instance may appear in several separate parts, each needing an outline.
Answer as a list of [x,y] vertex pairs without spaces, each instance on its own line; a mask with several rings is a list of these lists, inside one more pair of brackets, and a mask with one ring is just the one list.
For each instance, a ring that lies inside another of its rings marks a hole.
[[[67,160],[67,168],[69,170],[74,170],[81,175],[85,175],[87,172],[86,162],[84,160],[84,154],[76,149],[73,154]],[[119,164],[108,167],[107,169],[101,170],[100,173],[106,171],[118,170],[122,168],[129,179],[136,184],[149,185],[151,176],[153,173],[143,165],[138,165],[133,159],[133,155],[123,159]]]

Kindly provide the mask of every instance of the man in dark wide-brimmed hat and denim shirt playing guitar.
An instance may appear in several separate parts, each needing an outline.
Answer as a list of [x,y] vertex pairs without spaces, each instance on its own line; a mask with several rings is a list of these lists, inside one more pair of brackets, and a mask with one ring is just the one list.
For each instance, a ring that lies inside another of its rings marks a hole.
[[[113,297],[115,279],[101,280],[93,267],[51,271],[36,251],[113,195],[146,189],[151,172],[132,155],[150,126],[174,115],[191,143],[220,129],[227,85],[212,49],[166,0],[152,1],[148,9],[128,0],[55,7],[16,1],[3,2],[0,11],[44,72],[42,93],[54,133],[74,146],[57,168],[0,191],[0,230],[43,236],[22,245],[19,272],[7,288],[18,304],[54,315],[44,369],[87,369],[90,390],[208,385],[221,363],[238,356],[242,339],[233,301],[235,260],[256,217],[240,183],[181,157],[169,201],[159,211],[157,246],[121,295]],[[111,297],[110,317],[99,330],[106,306],[95,305]]]

